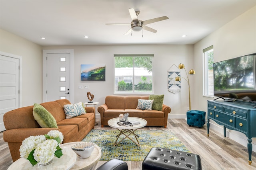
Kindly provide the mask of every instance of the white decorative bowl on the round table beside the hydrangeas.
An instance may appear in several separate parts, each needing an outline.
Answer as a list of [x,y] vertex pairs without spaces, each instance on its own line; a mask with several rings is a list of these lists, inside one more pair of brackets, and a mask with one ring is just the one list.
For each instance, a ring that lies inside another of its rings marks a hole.
[[92,142],[82,142],[72,146],[71,149],[74,150],[80,158],[88,158],[91,156],[94,147],[95,144]]

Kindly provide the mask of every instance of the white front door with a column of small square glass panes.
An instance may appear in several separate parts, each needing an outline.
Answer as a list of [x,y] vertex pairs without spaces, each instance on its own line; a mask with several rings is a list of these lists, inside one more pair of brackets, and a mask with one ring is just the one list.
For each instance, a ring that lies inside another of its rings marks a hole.
[[47,54],[47,102],[70,101],[70,53]]

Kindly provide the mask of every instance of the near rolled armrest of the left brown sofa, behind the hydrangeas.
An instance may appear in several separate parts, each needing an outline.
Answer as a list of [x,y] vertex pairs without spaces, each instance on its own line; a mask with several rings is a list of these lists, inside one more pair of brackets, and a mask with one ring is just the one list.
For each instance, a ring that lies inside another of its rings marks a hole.
[[[45,135],[50,130],[60,130],[58,128],[20,128],[4,131],[3,138],[5,142],[22,142],[30,136]],[[21,133],[22,132],[22,133]]]

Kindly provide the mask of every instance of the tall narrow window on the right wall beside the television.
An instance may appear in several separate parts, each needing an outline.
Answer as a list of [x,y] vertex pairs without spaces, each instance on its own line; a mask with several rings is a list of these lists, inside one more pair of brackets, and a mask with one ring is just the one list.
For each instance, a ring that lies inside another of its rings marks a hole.
[[214,82],[213,82],[213,45],[203,49],[203,61],[204,61],[204,96],[214,96]]

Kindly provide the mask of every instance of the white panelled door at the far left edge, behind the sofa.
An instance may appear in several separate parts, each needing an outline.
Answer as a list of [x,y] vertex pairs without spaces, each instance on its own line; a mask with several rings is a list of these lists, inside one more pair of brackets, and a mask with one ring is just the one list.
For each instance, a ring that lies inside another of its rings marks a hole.
[[20,106],[20,59],[0,55],[0,131],[4,131],[3,116]]

